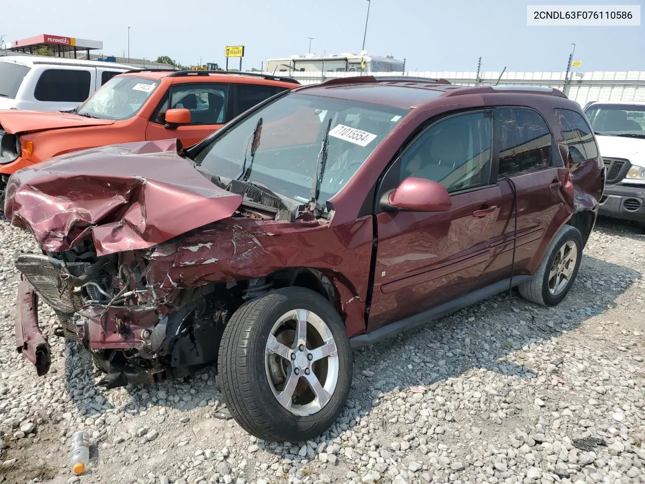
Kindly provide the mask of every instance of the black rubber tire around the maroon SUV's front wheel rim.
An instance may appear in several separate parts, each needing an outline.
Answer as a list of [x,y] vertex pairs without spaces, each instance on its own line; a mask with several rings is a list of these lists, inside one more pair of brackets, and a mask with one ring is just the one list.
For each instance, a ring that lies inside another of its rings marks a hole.
[[[315,414],[296,416],[273,394],[265,366],[265,348],[273,325],[286,312],[305,309],[323,319],[338,355],[337,385],[328,403]],[[244,303],[224,328],[218,379],[224,403],[250,434],[268,441],[303,441],[327,430],[341,414],[352,385],[352,351],[342,319],[324,299],[301,287],[282,288]]]

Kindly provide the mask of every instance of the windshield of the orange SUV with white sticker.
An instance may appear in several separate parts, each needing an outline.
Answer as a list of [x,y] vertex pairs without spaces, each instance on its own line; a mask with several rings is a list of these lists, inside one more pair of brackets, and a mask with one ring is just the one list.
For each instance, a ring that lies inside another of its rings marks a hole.
[[128,119],[139,112],[159,81],[144,77],[116,76],[76,110],[76,114],[101,119]]

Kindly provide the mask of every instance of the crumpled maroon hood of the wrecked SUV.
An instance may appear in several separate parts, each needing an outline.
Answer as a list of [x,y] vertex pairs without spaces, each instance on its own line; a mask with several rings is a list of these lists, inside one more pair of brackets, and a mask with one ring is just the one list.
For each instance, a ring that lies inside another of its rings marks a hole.
[[61,252],[92,234],[101,256],[152,247],[230,217],[241,203],[168,139],[83,150],[18,170],[5,215],[44,250]]

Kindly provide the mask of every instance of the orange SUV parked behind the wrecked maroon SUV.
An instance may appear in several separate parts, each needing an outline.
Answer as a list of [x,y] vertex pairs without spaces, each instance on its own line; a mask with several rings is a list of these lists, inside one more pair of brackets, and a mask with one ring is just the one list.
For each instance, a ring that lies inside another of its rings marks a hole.
[[68,112],[0,110],[0,197],[20,168],[96,146],[178,138],[197,143],[248,108],[299,85],[264,74],[135,70]]

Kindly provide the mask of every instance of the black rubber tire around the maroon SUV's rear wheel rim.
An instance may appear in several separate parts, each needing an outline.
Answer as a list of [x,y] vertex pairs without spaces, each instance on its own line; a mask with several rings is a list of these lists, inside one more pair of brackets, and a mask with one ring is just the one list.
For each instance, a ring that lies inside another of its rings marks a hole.
[[[573,276],[570,277],[568,283],[564,288],[562,288],[561,292],[554,295],[551,294],[551,291],[549,290],[550,270],[553,267],[553,262],[556,257],[559,256],[561,248],[568,242],[573,242],[577,250],[577,259],[575,261],[575,267],[573,268]],[[573,285],[573,281],[575,281],[575,277],[578,274],[578,269],[582,259],[582,247],[583,243],[580,231],[575,227],[571,227],[571,225],[564,225],[564,227],[555,234],[555,237],[553,237],[553,242],[551,242],[551,245],[546,250],[544,259],[542,259],[542,263],[535,272],[533,279],[521,283],[517,287],[522,297],[542,306],[555,306],[560,303],[560,301],[562,301],[562,299],[564,299],[568,294],[571,286]]]

